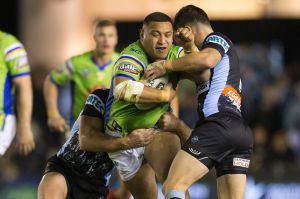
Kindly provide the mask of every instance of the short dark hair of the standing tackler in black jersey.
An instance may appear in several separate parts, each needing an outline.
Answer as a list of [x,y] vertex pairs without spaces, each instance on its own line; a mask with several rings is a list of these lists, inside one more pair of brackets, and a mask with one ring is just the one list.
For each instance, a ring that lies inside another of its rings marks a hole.
[[204,10],[194,5],[187,5],[177,12],[174,19],[174,28],[178,29],[197,22],[210,25],[209,18]]

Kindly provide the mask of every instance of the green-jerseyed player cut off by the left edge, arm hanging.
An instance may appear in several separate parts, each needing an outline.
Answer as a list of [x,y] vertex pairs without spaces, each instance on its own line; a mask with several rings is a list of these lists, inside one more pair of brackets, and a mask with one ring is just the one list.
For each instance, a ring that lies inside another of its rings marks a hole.
[[[18,117],[15,117],[14,97]],[[31,131],[32,86],[24,46],[11,34],[0,31],[0,156],[16,135],[21,154],[34,147]]]

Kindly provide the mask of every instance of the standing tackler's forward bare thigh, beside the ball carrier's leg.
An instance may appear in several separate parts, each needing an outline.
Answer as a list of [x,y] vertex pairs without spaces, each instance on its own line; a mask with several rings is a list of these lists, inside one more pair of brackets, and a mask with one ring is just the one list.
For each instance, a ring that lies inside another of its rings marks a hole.
[[184,150],[180,150],[164,183],[164,193],[172,189],[185,192],[189,186],[202,178],[209,171],[208,167]]

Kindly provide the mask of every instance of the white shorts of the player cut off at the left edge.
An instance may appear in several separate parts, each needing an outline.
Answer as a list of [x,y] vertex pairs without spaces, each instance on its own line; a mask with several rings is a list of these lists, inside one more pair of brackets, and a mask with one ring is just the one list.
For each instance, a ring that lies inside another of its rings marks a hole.
[[5,115],[0,127],[0,155],[4,155],[16,135],[16,116]]

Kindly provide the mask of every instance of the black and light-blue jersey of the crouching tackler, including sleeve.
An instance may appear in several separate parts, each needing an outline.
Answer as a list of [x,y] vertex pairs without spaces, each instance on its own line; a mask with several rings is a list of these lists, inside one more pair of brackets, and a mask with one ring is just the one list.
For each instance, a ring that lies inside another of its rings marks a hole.
[[[103,121],[105,104],[109,95],[109,90],[97,89],[91,93],[85,103],[80,115],[97,117]],[[111,175],[113,163],[105,152],[87,152],[80,150],[79,144],[80,116],[73,125],[71,136],[58,151],[57,156],[74,169],[74,172],[82,176],[97,179],[108,183]],[[103,122],[104,126],[104,122]],[[104,132],[104,129],[102,130]]]

